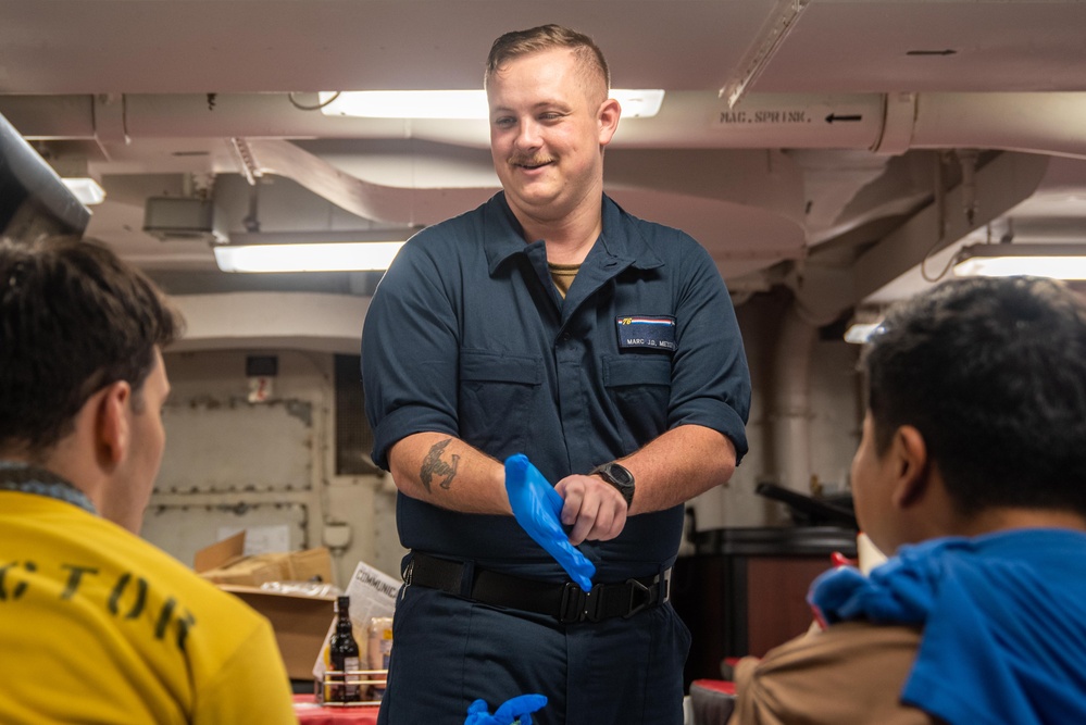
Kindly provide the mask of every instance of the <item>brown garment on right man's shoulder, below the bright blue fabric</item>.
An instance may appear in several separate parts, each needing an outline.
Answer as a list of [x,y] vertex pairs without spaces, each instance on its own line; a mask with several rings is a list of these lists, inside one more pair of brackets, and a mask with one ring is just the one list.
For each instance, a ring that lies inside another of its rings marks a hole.
[[919,628],[836,624],[785,642],[735,668],[728,725],[933,725],[898,697],[920,645]]

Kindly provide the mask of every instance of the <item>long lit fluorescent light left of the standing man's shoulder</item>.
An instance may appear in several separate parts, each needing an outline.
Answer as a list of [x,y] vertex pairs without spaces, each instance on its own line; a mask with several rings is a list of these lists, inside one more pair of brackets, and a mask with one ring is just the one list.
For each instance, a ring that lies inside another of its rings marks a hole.
[[215,262],[223,272],[370,272],[387,270],[402,241],[333,241],[222,245]]

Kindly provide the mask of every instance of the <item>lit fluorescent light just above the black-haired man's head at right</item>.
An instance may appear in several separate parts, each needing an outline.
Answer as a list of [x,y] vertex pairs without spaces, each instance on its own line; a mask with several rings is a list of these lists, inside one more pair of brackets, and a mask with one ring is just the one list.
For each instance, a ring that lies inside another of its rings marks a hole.
[[996,243],[969,245],[958,252],[959,277],[1031,275],[1056,279],[1086,279],[1086,245]]

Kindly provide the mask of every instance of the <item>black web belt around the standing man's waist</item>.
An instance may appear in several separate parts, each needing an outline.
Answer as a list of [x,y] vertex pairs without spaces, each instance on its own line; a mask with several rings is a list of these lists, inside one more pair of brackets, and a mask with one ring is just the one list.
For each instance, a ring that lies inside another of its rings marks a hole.
[[562,624],[629,617],[667,601],[671,570],[657,576],[597,584],[585,592],[573,582],[556,584],[491,572],[472,562],[414,552],[403,570],[409,586],[440,589],[492,607],[549,614]]

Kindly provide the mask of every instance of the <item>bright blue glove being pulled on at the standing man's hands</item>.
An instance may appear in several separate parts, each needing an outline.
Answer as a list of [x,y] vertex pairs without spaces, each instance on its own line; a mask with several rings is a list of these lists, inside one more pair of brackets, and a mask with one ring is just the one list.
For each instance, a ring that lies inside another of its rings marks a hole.
[[577,586],[590,591],[596,566],[570,543],[562,530],[562,497],[524,453],[505,459],[505,492],[521,528],[558,560]]

